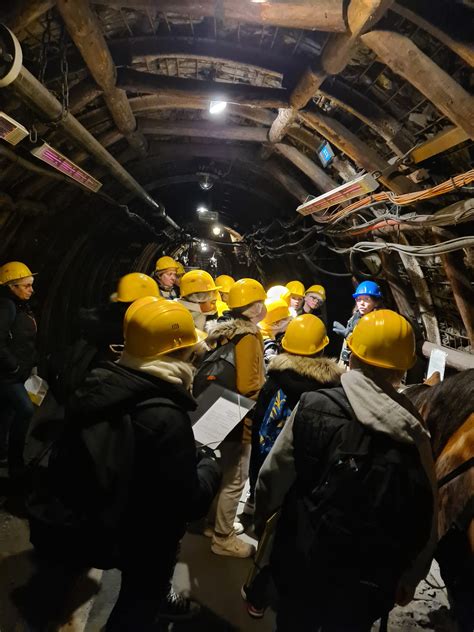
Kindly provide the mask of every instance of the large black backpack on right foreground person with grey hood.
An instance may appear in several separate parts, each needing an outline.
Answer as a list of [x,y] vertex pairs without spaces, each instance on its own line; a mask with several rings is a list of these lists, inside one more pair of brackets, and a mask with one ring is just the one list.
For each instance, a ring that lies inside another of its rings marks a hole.
[[[319,395],[337,403],[340,390]],[[431,532],[433,493],[417,448],[352,416],[323,458],[317,484],[297,492],[298,542],[307,565],[336,583],[362,582],[393,597]],[[308,473],[308,459],[306,466]]]

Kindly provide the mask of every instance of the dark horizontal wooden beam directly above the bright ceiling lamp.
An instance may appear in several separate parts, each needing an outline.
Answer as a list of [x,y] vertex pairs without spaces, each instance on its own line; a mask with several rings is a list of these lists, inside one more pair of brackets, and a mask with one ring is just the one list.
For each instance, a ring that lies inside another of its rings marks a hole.
[[288,104],[288,91],[284,88],[261,88],[238,83],[165,77],[130,68],[118,70],[117,85],[130,92],[187,97],[191,101],[227,101],[263,108],[278,108]]

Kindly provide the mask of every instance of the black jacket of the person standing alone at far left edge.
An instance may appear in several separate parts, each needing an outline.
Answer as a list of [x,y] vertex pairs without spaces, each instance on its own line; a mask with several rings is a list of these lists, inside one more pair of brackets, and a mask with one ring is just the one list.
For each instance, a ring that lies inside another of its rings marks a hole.
[[0,287],[0,381],[23,383],[36,365],[36,321],[28,301]]

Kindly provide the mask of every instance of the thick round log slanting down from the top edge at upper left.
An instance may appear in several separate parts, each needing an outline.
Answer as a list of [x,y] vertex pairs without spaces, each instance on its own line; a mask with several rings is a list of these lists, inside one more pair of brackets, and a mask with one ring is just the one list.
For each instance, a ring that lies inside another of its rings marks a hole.
[[146,156],[146,139],[137,132],[126,93],[116,87],[117,70],[89,0],[57,0],[57,7],[94,81],[103,90],[115,125],[131,147],[142,157]]

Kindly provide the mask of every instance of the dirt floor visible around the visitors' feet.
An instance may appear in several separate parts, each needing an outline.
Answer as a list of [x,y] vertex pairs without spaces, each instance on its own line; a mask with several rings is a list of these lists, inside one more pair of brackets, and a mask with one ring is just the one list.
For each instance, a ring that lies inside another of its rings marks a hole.
[[[91,570],[74,581],[57,569],[48,576],[37,573],[25,520],[0,511],[0,632],[40,632],[45,616],[56,621],[49,630],[99,632],[115,602],[120,577],[117,571]],[[246,536],[248,537],[248,536]],[[271,632],[274,614],[252,620],[240,597],[249,560],[219,557],[211,553],[210,541],[188,534],[183,542],[175,573],[178,590],[191,592],[202,604],[199,619],[170,626],[175,632]],[[67,603],[67,614],[57,606]],[[45,613],[48,613],[45,615]],[[378,630],[378,625],[373,628]],[[415,600],[390,615],[389,632],[455,632],[446,592],[436,565],[423,582]]]

